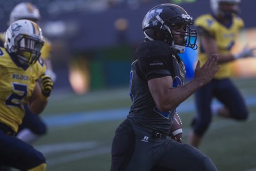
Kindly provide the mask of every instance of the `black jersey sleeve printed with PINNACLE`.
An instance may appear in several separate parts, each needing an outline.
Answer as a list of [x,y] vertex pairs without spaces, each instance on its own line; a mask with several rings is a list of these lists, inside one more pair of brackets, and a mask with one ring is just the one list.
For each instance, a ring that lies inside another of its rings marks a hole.
[[165,42],[146,42],[136,51],[138,72],[145,80],[170,75],[169,60],[172,50]]

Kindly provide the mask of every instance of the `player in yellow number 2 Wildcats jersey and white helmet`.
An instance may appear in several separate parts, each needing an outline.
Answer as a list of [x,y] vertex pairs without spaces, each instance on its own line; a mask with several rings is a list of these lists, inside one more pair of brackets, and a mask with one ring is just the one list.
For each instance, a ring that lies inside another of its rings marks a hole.
[[4,48],[0,47],[0,165],[46,170],[44,156],[14,137],[25,115],[24,105],[40,114],[53,88],[39,59],[42,45],[41,29],[30,20],[17,20],[5,32]]

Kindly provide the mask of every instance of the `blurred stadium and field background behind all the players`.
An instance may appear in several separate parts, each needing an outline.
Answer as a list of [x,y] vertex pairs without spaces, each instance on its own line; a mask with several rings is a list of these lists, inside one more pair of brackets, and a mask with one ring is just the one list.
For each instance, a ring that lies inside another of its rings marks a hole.
[[[12,8],[20,0],[0,0],[0,32],[7,29]],[[143,41],[146,12],[163,3],[181,5],[196,18],[209,13],[208,0],[33,0],[40,26],[52,41],[57,81],[41,117],[49,133],[34,145],[45,154],[48,170],[109,170],[111,141],[131,105],[129,73],[136,46]],[[256,46],[256,1],[242,0],[245,29],[232,51]],[[189,54],[189,55],[188,55]],[[183,59],[187,81],[193,77],[196,51]],[[245,96],[250,118],[238,123],[215,118],[200,150],[219,170],[256,170],[256,59],[233,63],[233,76]],[[215,105],[219,105],[215,101]],[[193,97],[178,109],[184,141],[195,111]],[[171,162],[171,161],[170,161]]]

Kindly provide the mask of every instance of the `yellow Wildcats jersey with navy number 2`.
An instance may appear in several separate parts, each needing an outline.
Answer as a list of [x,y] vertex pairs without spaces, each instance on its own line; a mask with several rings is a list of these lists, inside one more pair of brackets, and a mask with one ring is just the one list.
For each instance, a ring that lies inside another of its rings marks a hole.
[[32,95],[38,78],[46,71],[41,59],[23,69],[15,58],[0,47],[0,122],[15,132],[25,115],[24,104]]

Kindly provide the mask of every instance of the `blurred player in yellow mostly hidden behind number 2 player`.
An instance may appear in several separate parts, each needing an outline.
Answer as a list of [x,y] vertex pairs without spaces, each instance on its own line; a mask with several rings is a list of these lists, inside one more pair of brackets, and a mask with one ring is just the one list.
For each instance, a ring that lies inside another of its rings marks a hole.
[[[13,23],[18,19],[29,19],[37,23],[40,20],[39,10],[31,3],[19,3],[10,13],[9,23]],[[0,35],[1,38],[1,35]],[[41,58],[46,65],[46,74],[51,77],[53,81],[56,80],[56,74],[52,70],[51,63],[51,42],[44,37],[44,46],[41,49]],[[17,138],[31,143],[39,137],[47,133],[47,125],[40,119],[39,116],[34,115],[25,105],[26,113],[23,123],[19,126]]]

